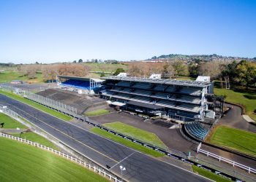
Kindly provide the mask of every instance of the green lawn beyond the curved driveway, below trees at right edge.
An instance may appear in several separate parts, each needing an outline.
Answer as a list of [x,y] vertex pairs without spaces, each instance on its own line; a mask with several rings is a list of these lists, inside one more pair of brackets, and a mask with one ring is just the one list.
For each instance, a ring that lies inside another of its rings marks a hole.
[[254,114],[256,109],[256,92],[246,92],[246,90],[241,92],[214,87],[214,94],[226,95],[225,101],[227,102],[242,104],[246,108],[246,114],[256,121],[256,114]]

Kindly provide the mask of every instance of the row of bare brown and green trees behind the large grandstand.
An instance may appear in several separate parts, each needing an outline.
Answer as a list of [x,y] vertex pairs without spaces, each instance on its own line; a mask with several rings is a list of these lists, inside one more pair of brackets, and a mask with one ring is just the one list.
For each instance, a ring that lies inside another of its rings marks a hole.
[[240,84],[248,88],[256,87],[256,63],[249,60],[233,61],[203,61],[194,60],[190,63],[183,60],[175,60],[168,63],[129,63],[130,76],[148,77],[151,74],[162,74],[165,77],[189,76],[211,76],[223,82],[226,87],[229,84]]

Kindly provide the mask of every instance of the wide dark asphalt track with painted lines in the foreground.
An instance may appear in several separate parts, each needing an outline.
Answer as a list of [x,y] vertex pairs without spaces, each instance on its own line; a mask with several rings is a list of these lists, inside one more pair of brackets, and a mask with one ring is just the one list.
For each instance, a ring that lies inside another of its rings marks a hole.
[[124,165],[127,170],[123,177],[127,181],[208,181],[200,175],[121,146],[4,95],[0,95],[0,103],[7,103],[13,111],[81,154],[101,165],[110,165],[111,170],[119,176],[119,165]]

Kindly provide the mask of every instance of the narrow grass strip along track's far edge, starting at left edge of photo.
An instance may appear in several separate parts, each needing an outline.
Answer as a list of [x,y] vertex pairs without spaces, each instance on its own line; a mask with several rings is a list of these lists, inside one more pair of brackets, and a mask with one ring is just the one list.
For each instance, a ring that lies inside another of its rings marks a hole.
[[33,106],[34,108],[37,108],[37,109],[42,110],[42,111],[45,111],[48,114],[51,114],[51,115],[56,116],[56,117],[59,117],[60,119],[64,119],[65,121],[69,121],[69,120],[72,119],[71,116],[67,116],[65,114],[61,114],[58,111],[55,111],[53,109],[47,108],[45,106],[42,106],[39,103],[35,103],[35,102],[31,101],[31,100],[28,100],[26,98],[20,97],[19,95],[16,95],[14,93],[4,92],[4,91],[0,90],[0,94],[6,95],[6,96],[8,96],[10,98],[13,98],[13,99],[18,100],[18,101],[23,102],[23,103],[26,103],[26,104],[28,104],[30,106]]

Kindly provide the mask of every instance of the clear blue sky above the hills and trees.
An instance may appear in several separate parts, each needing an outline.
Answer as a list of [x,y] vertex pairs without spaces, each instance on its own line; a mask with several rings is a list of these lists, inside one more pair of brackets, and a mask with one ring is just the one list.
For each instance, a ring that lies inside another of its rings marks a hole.
[[256,57],[256,1],[0,0],[0,62]]

